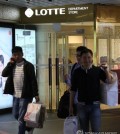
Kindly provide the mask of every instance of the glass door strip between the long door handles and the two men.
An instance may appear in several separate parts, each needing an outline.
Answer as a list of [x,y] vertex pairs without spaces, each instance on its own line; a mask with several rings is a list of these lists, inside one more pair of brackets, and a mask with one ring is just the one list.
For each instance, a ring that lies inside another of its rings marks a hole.
[[58,103],[60,97],[63,95],[64,91],[67,89],[64,77],[66,74],[67,65],[67,38],[65,35],[56,35],[56,109],[58,108]]

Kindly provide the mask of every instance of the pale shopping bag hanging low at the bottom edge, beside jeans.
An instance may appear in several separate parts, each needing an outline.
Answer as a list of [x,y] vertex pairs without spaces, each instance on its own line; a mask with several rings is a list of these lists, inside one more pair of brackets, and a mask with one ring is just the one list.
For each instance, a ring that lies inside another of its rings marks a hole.
[[78,131],[78,118],[67,117],[64,121],[64,134],[76,134]]

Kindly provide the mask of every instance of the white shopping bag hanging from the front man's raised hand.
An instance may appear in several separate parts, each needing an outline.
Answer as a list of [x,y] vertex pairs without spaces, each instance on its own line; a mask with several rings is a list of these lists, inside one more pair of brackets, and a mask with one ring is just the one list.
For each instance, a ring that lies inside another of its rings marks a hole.
[[118,78],[115,72],[111,72],[115,81],[112,84],[101,83],[101,102],[109,106],[118,105]]

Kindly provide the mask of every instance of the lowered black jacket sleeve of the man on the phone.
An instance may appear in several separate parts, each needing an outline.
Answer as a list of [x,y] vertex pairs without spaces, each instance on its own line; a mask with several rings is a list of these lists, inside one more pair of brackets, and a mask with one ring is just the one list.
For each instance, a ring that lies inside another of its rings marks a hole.
[[38,96],[38,84],[35,76],[35,68],[33,65],[31,66],[31,84],[33,89],[33,97]]

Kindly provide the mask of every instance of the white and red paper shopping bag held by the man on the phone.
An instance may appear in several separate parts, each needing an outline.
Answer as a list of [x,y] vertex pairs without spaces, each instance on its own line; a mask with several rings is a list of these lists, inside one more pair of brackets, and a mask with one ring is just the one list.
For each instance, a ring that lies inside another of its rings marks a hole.
[[26,126],[32,128],[43,128],[46,108],[43,104],[29,103],[24,116]]

